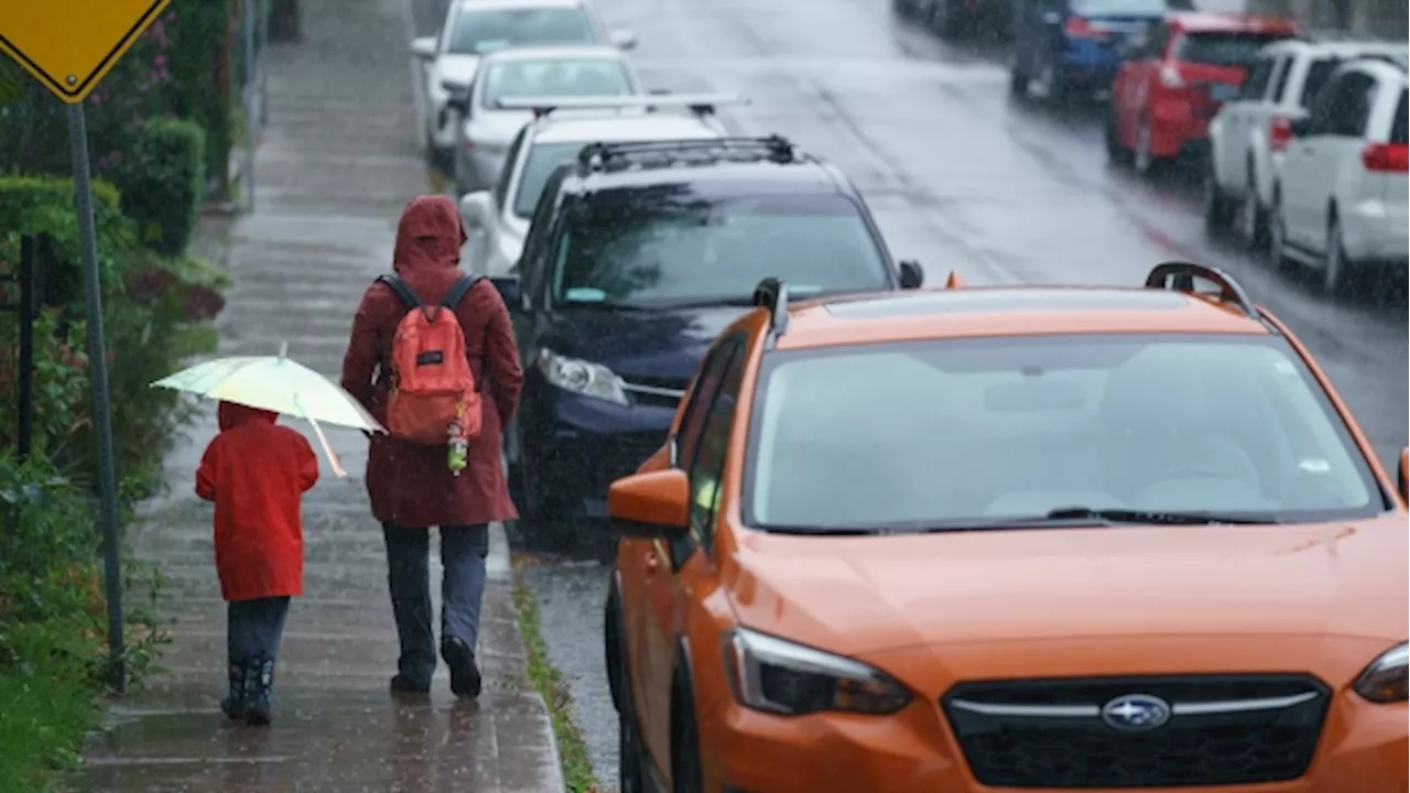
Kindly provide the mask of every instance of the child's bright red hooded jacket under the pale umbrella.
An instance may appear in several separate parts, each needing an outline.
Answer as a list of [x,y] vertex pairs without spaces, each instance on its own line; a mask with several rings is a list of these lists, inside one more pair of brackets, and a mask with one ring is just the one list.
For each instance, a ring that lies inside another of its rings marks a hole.
[[279,416],[220,404],[217,435],[196,471],[196,495],[216,502],[216,570],[227,601],[303,594],[303,492],[319,459]]

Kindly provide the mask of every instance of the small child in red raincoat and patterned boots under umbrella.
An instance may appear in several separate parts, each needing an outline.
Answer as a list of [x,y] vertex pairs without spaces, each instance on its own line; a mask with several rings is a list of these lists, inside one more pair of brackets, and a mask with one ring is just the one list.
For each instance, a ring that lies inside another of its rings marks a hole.
[[196,495],[216,502],[216,570],[227,601],[230,693],[220,710],[269,724],[269,691],[289,598],[303,594],[303,494],[319,459],[276,413],[220,404],[217,435],[196,471]]

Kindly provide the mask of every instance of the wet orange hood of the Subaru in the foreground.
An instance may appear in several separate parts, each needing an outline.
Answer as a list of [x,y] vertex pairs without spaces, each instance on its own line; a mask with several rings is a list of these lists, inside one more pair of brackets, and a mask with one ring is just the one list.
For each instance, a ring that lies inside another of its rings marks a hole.
[[1410,522],[902,536],[747,532],[746,626],[847,655],[959,642],[1410,635]]

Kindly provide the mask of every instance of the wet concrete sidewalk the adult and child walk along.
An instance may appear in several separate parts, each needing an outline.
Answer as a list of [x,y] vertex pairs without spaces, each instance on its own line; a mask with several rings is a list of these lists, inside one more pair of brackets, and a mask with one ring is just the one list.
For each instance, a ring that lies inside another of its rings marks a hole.
[[[290,357],[336,380],[357,302],[388,268],[396,219],[427,179],[406,58],[407,0],[300,6],[306,41],[271,55],[255,212],[234,223],[223,262],[234,288],[220,354],[275,354],[288,341]],[[444,665],[429,700],[398,703],[388,693],[396,634],[381,528],[361,478],[367,443],[355,432],[330,432],[348,478],[336,478],[320,456],[323,478],[305,500],[305,597],[289,614],[275,722],[251,730],[223,721],[224,603],[210,507],[192,494],[213,433],[206,409],[168,454],[171,495],[145,505],[130,528],[130,553],[166,579],[161,612],[175,619],[166,672],[113,710],[111,730],[65,787],[563,790],[547,710],[523,680],[502,529],[491,535],[478,648],[485,694],[455,703]],[[439,573],[433,564],[433,581]]]

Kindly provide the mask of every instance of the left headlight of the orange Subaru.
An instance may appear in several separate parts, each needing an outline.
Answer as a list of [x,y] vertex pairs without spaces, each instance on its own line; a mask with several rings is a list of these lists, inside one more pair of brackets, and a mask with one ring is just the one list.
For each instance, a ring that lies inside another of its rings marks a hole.
[[723,643],[729,687],[744,707],[783,715],[819,711],[887,715],[911,701],[905,686],[860,660],[747,628],[726,632]]

